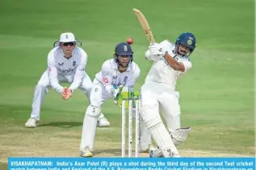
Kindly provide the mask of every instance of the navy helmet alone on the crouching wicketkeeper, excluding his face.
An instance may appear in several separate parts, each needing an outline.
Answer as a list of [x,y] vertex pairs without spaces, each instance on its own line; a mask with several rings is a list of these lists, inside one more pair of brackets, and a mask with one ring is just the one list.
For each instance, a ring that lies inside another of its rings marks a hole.
[[115,62],[119,64],[118,56],[129,56],[130,63],[132,62],[133,52],[130,44],[120,43],[115,46],[114,58]]

